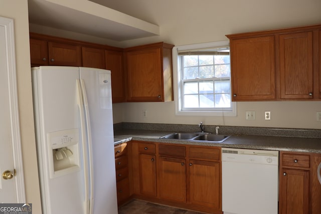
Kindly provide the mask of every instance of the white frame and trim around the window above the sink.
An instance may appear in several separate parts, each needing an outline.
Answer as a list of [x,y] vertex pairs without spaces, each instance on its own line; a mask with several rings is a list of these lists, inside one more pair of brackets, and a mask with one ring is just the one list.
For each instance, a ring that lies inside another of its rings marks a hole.
[[[217,108],[215,110],[183,110],[182,109],[182,93],[181,93],[181,63],[179,51],[209,49],[222,46],[229,46],[229,41],[220,41],[212,43],[201,43],[194,45],[175,46],[173,48],[173,86],[174,86],[174,102],[175,114],[183,116],[237,116],[237,103],[231,102],[231,110]],[[232,98],[231,98],[232,99]]]

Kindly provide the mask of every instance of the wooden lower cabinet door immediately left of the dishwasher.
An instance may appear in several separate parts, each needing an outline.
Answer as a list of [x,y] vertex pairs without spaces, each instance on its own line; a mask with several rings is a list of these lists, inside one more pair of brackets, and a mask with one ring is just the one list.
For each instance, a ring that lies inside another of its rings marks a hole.
[[188,202],[221,210],[220,177],[219,162],[190,160]]

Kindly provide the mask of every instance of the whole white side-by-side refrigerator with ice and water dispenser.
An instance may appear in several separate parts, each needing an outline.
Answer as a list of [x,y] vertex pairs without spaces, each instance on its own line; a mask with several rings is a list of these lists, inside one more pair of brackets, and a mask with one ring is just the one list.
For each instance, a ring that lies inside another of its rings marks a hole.
[[110,71],[43,66],[32,77],[43,213],[118,213]]

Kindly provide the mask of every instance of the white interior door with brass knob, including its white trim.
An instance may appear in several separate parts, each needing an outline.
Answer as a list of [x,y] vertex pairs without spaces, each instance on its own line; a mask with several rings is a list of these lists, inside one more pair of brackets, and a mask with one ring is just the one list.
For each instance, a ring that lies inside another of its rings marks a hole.
[[25,202],[14,51],[13,21],[0,17],[0,203]]

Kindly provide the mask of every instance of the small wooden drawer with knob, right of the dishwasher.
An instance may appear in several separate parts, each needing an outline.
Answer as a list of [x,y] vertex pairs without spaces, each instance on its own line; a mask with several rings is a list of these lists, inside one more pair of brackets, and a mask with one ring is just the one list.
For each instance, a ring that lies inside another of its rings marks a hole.
[[310,155],[307,154],[282,154],[283,166],[310,167]]

